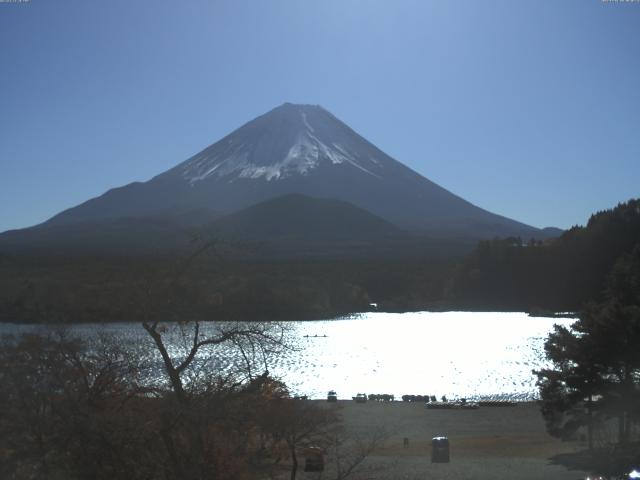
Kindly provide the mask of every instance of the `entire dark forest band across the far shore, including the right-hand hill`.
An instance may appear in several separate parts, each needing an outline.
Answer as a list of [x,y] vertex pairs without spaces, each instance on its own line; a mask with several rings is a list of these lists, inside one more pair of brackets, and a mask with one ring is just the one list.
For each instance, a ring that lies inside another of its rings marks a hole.
[[[180,254],[0,252],[0,321],[304,320],[381,311],[579,311],[640,243],[640,200],[556,239],[259,255],[215,240]],[[466,253],[465,253],[466,252]]]

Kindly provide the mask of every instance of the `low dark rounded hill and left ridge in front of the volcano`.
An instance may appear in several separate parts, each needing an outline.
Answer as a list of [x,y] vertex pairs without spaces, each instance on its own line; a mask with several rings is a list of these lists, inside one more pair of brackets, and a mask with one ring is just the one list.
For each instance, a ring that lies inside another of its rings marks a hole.
[[[197,211],[194,215],[204,215]],[[191,215],[172,218],[116,218],[40,225],[5,232],[0,246],[65,253],[166,253],[189,248],[197,238],[248,241],[251,253],[297,256],[346,254],[358,248],[388,251],[399,242],[416,247],[417,239],[395,225],[340,200],[283,195],[192,228]],[[240,249],[242,250],[242,249]],[[248,253],[248,252],[245,252]]]

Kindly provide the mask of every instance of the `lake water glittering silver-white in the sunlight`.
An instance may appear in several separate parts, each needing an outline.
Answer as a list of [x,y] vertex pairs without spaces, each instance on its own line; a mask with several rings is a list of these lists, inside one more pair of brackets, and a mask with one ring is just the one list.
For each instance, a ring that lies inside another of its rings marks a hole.
[[[272,359],[269,371],[292,392],[312,398],[333,389],[339,398],[363,392],[531,400],[537,398],[531,371],[546,364],[544,339],[554,324],[573,321],[524,313],[414,312],[291,322],[298,348]],[[41,328],[0,324],[0,333]],[[150,345],[138,323],[70,330],[87,338],[107,333],[140,349]],[[174,343],[179,352],[178,337]],[[218,359],[216,368],[231,362]]]

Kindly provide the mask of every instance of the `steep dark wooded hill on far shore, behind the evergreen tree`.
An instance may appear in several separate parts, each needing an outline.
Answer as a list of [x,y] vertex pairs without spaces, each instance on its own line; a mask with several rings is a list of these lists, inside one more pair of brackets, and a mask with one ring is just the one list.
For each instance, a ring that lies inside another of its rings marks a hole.
[[639,199],[598,212],[552,241],[483,241],[453,275],[448,302],[466,309],[579,310],[600,297],[616,260],[639,242]]

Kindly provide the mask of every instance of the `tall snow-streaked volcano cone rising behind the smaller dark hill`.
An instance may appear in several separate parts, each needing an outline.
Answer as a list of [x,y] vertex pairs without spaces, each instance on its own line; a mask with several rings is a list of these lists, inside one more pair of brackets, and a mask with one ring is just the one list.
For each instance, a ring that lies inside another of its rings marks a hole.
[[132,217],[205,224],[290,194],[349,202],[401,229],[433,237],[547,236],[436,185],[322,107],[290,103],[147,182],[109,190],[43,225]]

